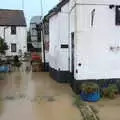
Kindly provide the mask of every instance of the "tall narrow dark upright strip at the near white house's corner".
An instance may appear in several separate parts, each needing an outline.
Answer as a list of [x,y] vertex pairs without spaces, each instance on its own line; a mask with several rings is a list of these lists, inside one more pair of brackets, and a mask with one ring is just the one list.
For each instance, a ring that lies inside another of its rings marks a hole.
[[74,75],[74,32],[71,33],[71,70]]

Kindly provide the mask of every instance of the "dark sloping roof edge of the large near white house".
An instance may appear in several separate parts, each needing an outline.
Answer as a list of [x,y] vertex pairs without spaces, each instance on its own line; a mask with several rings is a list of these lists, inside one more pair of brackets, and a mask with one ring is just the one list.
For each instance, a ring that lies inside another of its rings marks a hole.
[[59,2],[53,9],[49,11],[49,13],[45,16],[46,19],[49,19],[53,15],[56,15],[58,12],[61,11],[61,8],[66,5],[70,0],[62,0]]

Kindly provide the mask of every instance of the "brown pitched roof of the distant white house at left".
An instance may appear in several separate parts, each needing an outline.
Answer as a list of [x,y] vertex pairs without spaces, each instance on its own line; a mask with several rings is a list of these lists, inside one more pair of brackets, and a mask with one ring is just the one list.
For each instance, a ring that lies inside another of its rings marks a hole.
[[0,9],[0,26],[26,26],[24,12]]

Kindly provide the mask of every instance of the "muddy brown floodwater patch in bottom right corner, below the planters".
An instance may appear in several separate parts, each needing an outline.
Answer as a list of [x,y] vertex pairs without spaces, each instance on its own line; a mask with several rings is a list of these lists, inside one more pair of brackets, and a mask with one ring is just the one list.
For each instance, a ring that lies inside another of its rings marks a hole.
[[100,120],[120,120],[120,96],[114,100],[102,99],[89,104],[98,109]]

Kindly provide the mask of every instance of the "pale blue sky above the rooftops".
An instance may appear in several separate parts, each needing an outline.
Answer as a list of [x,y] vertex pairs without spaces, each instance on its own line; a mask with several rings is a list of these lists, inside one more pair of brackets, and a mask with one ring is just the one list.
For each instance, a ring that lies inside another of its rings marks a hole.
[[[22,9],[23,0],[0,0],[1,9]],[[42,0],[44,14],[54,7],[59,0]],[[38,16],[41,13],[41,0],[24,0],[24,11],[29,23],[32,16]]]

